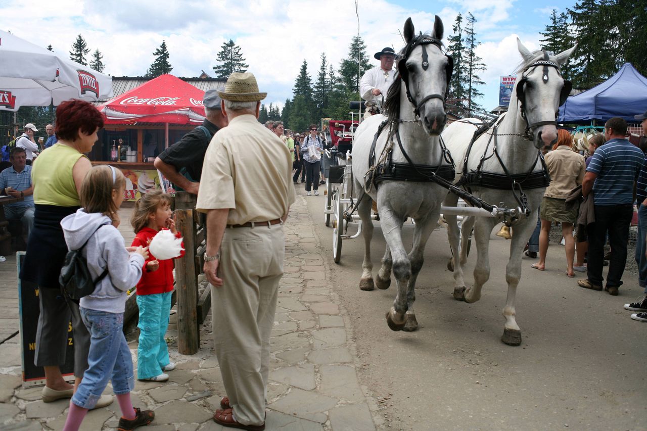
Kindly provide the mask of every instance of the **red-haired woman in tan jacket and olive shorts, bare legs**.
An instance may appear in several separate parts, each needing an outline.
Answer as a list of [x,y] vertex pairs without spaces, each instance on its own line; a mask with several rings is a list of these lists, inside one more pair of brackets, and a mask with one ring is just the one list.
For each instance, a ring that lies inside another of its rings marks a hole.
[[542,230],[539,234],[539,261],[531,267],[540,271],[546,268],[546,253],[548,251],[548,234],[554,222],[562,224],[566,250],[566,275],[574,277],[573,259],[575,258],[575,238],[573,238],[573,225],[577,221],[578,208],[567,210],[566,198],[571,190],[582,184],[586,165],[584,157],[573,150],[571,134],[564,129],[558,129],[557,142],[553,150],[545,156],[551,183],[543,193],[540,210]]

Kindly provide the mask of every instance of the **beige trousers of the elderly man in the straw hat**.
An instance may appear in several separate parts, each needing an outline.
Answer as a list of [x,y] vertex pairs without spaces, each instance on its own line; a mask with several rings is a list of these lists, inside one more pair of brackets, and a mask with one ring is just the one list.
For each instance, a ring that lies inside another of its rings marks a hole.
[[270,333],[283,276],[283,225],[226,228],[219,274],[211,287],[215,355],[234,417],[265,421]]

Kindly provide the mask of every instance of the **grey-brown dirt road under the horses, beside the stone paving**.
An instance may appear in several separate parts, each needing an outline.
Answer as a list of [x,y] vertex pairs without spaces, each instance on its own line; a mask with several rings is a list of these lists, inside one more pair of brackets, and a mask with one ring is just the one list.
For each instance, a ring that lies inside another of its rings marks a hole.
[[[300,190],[299,193],[303,193]],[[641,296],[635,274],[625,274],[619,296],[587,291],[565,276],[564,248],[551,245],[547,271],[523,258],[517,293],[521,346],[500,340],[509,243],[492,234],[492,275],[476,304],[452,298],[446,269],[446,230],[433,232],[418,278],[419,329],[393,332],[384,314],[395,298],[358,289],[364,241],[344,241],[333,263],[332,229],[323,225],[323,193],[309,197],[336,292],[353,322],[360,384],[373,396],[378,426],[396,430],[645,430],[647,324],[622,306]],[[353,228],[354,229],[354,228]],[[411,228],[405,243],[410,244]],[[408,241],[408,242],[407,242]],[[373,240],[374,272],[384,252],[380,228]],[[465,282],[473,281],[476,250]]]

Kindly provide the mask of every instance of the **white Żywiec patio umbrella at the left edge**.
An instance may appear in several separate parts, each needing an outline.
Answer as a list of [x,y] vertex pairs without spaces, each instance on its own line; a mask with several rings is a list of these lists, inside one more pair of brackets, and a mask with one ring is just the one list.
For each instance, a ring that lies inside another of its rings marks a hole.
[[0,30],[0,110],[94,102],[112,96],[112,78]]

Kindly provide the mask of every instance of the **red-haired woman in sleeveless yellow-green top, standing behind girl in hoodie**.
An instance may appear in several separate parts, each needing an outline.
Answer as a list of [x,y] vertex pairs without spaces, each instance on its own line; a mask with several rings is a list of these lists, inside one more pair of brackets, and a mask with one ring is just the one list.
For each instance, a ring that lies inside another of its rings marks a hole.
[[[87,370],[90,335],[81,320],[78,304],[61,296],[58,276],[67,254],[61,219],[80,208],[79,193],[85,174],[92,165],[84,155],[91,151],[104,118],[92,104],[67,100],[56,108],[58,142],[34,160],[34,228],[27,240],[27,254],[21,267],[21,280],[38,284],[40,315],[36,332],[34,364],[45,369],[43,401],[70,398],[74,387],[61,375],[68,344],[68,325],[74,328],[74,377],[81,382]],[[106,406],[112,397],[100,397],[97,406]]]

